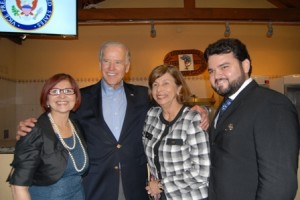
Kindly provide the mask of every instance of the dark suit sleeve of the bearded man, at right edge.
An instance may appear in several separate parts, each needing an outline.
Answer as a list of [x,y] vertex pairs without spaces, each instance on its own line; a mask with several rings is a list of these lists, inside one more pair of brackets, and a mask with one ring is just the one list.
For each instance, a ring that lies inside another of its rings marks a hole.
[[258,162],[256,200],[294,199],[297,192],[299,122],[287,98],[266,101],[254,123]]

